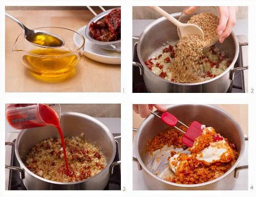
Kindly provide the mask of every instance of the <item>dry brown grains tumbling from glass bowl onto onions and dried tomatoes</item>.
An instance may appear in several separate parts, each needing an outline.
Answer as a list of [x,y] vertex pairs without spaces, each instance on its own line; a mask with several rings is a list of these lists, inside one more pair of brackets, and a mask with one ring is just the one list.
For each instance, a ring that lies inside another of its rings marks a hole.
[[145,61],[159,77],[179,83],[196,83],[217,77],[231,64],[217,46],[203,49],[216,37],[219,18],[210,13],[197,14],[188,23],[197,24],[205,38],[182,36],[178,43],[164,43],[160,51]]

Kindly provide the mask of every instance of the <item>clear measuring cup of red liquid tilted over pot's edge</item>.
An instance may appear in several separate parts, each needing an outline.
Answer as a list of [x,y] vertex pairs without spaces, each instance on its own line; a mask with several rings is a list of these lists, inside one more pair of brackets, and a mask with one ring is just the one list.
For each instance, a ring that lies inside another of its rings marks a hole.
[[44,111],[39,109],[39,106],[47,105],[49,109],[53,110],[60,119],[60,105],[59,104],[9,104],[6,109],[6,118],[9,125],[14,129],[29,129],[34,127],[50,126],[46,119]]

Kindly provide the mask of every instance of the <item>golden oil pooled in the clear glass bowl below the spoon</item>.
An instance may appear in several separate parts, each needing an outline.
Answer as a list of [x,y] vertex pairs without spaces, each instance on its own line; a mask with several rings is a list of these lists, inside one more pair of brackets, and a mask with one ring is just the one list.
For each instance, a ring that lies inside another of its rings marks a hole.
[[38,48],[28,53],[34,55],[24,55],[23,62],[29,70],[42,77],[64,75],[72,70],[81,58],[81,56],[78,57],[76,54],[70,54],[72,52],[65,47]]

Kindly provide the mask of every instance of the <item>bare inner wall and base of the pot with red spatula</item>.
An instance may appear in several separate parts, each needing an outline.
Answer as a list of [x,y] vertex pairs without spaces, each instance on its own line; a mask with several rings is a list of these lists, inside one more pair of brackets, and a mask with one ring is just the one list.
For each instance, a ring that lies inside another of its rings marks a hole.
[[[237,121],[228,113],[218,107],[210,105],[175,105],[168,106],[167,108],[169,113],[175,115],[184,124],[189,124],[196,120],[206,125],[206,127],[213,127],[217,133],[220,133],[227,138],[229,142],[236,145],[237,151],[240,153],[238,161],[241,159],[241,155],[243,155],[244,152],[244,135]],[[156,113],[160,116],[162,114],[162,112],[159,111],[156,111]],[[181,125],[178,123],[177,126]],[[157,172],[158,176],[161,178],[163,178],[163,175],[166,175],[166,173],[170,175],[173,174],[168,168],[167,161],[167,158],[170,156],[169,152],[173,149],[162,149],[160,152],[156,151],[155,156],[152,156],[146,151],[147,147],[150,145],[146,145],[146,142],[149,139],[153,140],[159,132],[168,128],[170,127],[164,124],[160,118],[150,115],[140,125],[136,134],[137,139],[135,140],[135,146],[138,148],[138,150],[135,149],[138,159],[141,159],[148,170],[153,174]],[[183,151],[183,149],[177,152],[180,151]]]

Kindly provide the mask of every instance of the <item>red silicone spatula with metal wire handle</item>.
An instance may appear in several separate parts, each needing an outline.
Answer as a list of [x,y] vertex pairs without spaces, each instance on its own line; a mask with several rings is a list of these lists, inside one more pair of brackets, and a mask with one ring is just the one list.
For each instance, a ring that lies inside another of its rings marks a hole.
[[[161,118],[161,120],[171,127],[174,127],[175,129],[178,129],[185,135],[182,138],[182,142],[186,144],[188,147],[192,147],[194,145],[195,139],[202,134],[201,124],[197,121],[193,121],[189,127],[187,127],[185,124],[183,124],[181,121],[179,121],[173,114],[170,114],[168,112],[164,112],[161,116],[157,115],[153,111],[150,110],[150,112]],[[183,126],[185,126],[187,129],[186,132],[182,131],[178,127],[176,127],[177,122],[180,122]]]

